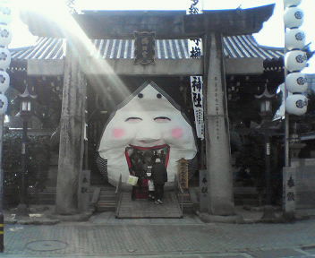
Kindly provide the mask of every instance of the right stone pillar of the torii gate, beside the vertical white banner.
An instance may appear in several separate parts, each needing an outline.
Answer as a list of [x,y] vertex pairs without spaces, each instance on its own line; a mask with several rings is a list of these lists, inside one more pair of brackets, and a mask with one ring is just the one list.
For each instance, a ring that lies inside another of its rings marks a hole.
[[211,215],[234,215],[233,176],[226,103],[226,74],[222,36],[210,33],[206,39],[206,153]]

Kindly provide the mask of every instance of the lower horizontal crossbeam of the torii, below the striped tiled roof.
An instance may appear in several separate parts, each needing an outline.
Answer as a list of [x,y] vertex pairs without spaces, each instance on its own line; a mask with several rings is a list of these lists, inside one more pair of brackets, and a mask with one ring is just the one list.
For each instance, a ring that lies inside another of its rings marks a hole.
[[[98,65],[91,66],[90,63]],[[226,74],[261,74],[264,71],[263,59],[226,58]],[[190,76],[203,73],[203,58],[200,59],[157,59],[156,64],[142,66],[133,64],[132,59],[94,59],[89,58],[84,73],[89,75],[163,75]],[[28,60],[29,76],[64,75],[64,59]]]

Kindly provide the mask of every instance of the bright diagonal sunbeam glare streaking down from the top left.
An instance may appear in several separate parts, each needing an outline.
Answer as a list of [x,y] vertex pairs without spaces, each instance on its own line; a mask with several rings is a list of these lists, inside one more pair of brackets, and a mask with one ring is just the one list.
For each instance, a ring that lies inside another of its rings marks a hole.
[[[107,71],[110,75],[107,76],[107,83],[112,88],[123,96],[129,96],[130,92],[127,90],[121,79],[115,74],[113,68],[106,63],[106,60],[101,59],[98,55],[98,49],[92,43],[91,39],[85,34],[79,24],[69,13],[69,8],[65,0],[42,1],[42,0],[13,0],[17,10],[21,12],[37,13],[39,17],[45,20],[55,22],[59,29],[63,31],[64,38],[67,39],[68,44],[72,47],[73,54],[77,56],[83,71],[87,68],[104,73]],[[40,24],[39,24],[40,26]],[[104,81],[97,79],[95,84],[98,92],[108,94],[104,87]],[[104,96],[104,95],[103,95]]]

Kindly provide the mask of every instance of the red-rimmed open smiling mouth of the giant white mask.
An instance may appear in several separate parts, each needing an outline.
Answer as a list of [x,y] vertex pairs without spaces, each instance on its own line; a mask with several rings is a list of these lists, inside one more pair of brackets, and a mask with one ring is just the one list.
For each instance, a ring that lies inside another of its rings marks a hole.
[[[140,142],[142,142],[142,141],[140,141]],[[147,142],[147,141],[144,141],[144,142]],[[151,157],[153,157],[155,154],[157,154],[158,157],[156,157],[156,158],[161,159],[161,161],[165,164],[165,166],[167,168],[170,149],[171,148],[167,144],[156,145],[153,147],[142,147],[142,146],[129,145],[129,147],[127,147],[126,150],[124,151],[124,156],[126,157],[128,168],[132,168],[132,159],[131,159],[132,153],[134,151],[144,152],[144,151],[149,150],[150,152],[152,152]],[[148,165],[152,165],[152,164],[148,164]]]

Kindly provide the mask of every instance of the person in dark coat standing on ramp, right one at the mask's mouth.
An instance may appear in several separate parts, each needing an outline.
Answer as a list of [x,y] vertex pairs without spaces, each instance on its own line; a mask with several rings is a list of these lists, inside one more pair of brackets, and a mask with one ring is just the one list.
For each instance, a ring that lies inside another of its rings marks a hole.
[[161,159],[156,159],[156,162],[152,166],[152,178],[155,189],[155,203],[162,204],[164,185],[167,182],[167,170],[166,166],[161,163]]

